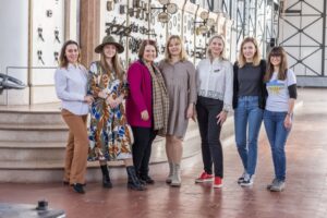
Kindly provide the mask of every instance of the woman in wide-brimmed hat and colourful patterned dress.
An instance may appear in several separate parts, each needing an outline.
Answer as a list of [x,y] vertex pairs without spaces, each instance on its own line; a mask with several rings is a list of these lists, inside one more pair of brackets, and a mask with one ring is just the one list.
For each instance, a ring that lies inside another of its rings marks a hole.
[[129,175],[128,187],[143,191],[145,187],[136,177],[131,145],[133,133],[126,123],[123,99],[129,94],[125,73],[118,53],[124,47],[110,35],[95,48],[100,60],[89,66],[88,88],[95,101],[90,109],[88,160],[98,160],[102,172],[102,186],[112,187],[107,161],[123,160]]

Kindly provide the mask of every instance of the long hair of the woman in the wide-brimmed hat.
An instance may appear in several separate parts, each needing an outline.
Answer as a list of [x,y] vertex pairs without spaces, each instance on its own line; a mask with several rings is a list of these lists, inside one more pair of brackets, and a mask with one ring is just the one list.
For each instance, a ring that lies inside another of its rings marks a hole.
[[119,56],[118,56],[118,52],[117,52],[117,48],[116,48],[116,53],[111,59],[113,69],[110,69],[109,64],[107,63],[104,49],[105,49],[105,47],[102,47],[102,51],[100,52],[100,65],[101,65],[101,68],[109,75],[109,77],[110,77],[110,74],[112,73],[112,70],[113,70],[117,77],[122,81],[124,78],[124,73],[125,72],[124,72],[124,70],[122,68],[122,64],[120,62],[120,59],[119,59]]

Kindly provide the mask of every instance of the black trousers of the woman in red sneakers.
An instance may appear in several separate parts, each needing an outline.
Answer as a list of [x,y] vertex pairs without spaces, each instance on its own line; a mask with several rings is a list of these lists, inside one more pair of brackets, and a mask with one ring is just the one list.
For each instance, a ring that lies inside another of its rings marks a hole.
[[223,177],[223,159],[220,142],[221,125],[216,118],[222,110],[223,102],[218,99],[198,96],[196,112],[202,143],[202,158],[205,172],[213,173],[213,162],[215,177]]

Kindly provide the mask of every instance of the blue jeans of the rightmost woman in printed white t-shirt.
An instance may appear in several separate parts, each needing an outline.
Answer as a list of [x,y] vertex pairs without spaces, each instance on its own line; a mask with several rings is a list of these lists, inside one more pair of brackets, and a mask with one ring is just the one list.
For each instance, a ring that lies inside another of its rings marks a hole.
[[291,131],[283,125],[286,116],[287,112],[272,112],[269,110],[264,112],[264,123],[271,148],[275,178],[279,181],[286,179],[284,145]]

